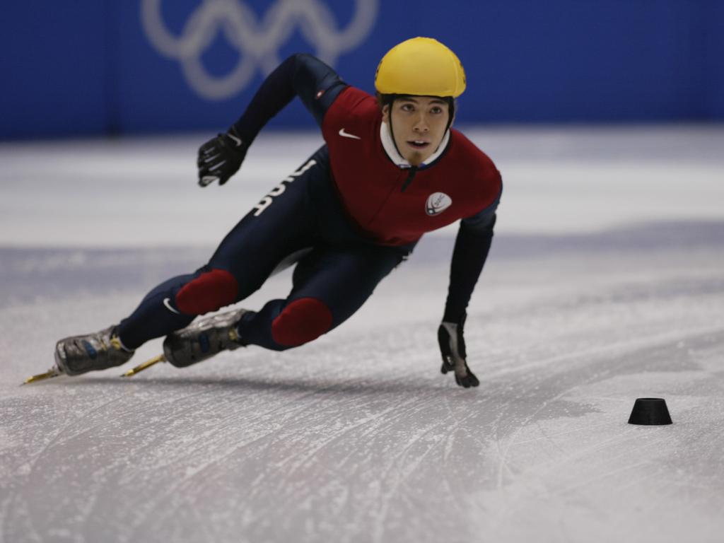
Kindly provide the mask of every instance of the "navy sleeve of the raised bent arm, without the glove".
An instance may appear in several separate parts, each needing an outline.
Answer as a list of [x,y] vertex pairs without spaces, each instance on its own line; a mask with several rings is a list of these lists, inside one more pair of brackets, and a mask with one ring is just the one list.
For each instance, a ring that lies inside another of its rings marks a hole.
[[269,119],[295,96],[299,96],[321,126],[327,109],[347,86],[321,60],[310,54],[294,54],[266,77],[234,128],[246,145],[251,145]]

